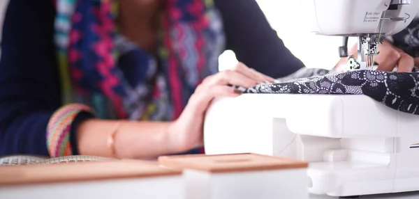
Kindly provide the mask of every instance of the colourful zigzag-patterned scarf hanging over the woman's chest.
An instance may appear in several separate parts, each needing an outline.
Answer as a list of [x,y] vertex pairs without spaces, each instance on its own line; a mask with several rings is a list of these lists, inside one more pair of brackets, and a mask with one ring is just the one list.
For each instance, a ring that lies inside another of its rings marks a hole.
[[218,72],[223,29],[212,0],[160,1],[154,57],[118,33],[117,1],[56,0],[64,104],[87,104],[99,118],[179,116],[196,86]]

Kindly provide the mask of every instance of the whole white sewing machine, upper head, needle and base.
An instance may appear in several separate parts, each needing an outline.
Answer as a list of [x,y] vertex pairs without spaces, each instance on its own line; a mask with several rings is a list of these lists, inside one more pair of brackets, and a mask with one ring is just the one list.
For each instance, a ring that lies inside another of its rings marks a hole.
[[[314,32],[360,37],[359,54],[366,55],[376,54],[378,35],[399,33],[419,10],[416,0],[305,2]],[[358,63],[369,68],[363,56]],[[310,193],[419,191],[419,116],[363,95],[218,98],[207,111],[204,139],[207,154],[255,152],[309,161]]]

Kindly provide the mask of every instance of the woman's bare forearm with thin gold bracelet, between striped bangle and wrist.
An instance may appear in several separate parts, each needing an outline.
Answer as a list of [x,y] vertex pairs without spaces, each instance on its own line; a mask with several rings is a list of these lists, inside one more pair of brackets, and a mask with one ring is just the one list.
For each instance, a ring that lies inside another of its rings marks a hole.
[[[89,119],[77,127],[80,154],[100,157],[150,159],[163,154],[182,151],[175,133],[170,131],[170,122],[137,122]],[[107,141],[115,131],[115,154],[108,148]]]

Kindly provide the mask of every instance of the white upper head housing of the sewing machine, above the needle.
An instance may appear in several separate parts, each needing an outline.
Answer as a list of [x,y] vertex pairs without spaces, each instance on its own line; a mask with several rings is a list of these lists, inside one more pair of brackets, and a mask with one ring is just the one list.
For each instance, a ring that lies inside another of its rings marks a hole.
[[304,0],[309,30],[318,35],[395,35],[419,10],[415,0]]

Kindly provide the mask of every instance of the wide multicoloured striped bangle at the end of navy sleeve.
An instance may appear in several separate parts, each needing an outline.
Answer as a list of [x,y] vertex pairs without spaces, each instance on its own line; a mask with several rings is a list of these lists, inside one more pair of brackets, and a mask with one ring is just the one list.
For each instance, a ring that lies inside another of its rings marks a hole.
[[72,155],[70,143],[71,124],[78,113],[89,112],[91,108],[83,104],[68,104],[57,110],[47,125],[47,149],[50,157]]

